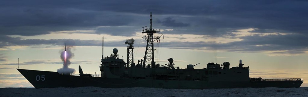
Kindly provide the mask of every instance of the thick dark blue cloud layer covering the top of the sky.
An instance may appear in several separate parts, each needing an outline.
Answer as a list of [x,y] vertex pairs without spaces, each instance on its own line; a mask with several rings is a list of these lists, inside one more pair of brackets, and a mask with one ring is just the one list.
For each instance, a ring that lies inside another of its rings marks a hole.
[[307,4],[303,0],[1,1],[0,32],[30,36],[98,26],[144,26],[144,20],[139,19],[153,12],[163,26],[191,26],[181,33],[221,35],[234,29],[258,28],[306,34]]

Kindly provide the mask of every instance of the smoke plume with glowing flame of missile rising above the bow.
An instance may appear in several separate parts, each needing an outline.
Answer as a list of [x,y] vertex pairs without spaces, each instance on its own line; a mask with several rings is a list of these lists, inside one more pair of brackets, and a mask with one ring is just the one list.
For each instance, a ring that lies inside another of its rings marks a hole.
[[60,58],[63,61],[63,67],[57,69],[59,74],[70,75],[75,72],[74,68],[68,68],[68,66],[71,64],[70,59],[74,57],[74,53],[71,52],[72,47],[73,46],[67,46],[66,51],[61,52]]

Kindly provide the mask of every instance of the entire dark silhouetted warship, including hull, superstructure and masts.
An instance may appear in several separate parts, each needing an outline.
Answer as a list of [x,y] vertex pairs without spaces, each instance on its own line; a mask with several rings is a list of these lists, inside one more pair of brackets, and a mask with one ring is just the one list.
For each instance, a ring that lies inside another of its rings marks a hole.
[[[230,67],[229,62],[223,64],[208,63],[205,68],[195,69],[198,64],[188,64],[187,68],[174,67],[174,60],[168,59],[168,64],[156,64],[154,61],[154,41],[163,36],[160,29],[152,28],[152,13],[150,27],[142,30],[147,36],[143,59],[134,63],[133,44],[130,38],[124,43],[127,46],[127,62],[120,59],[118,50],[113,49],[111,56],[102,56],[99,65],[100,76],[83,73],[79,66],[79,75],[59,74],[51,71],[17,69],[35,88],[55,87],[154,87],[172,89],[206,89],[206,88],[239,88],[239,87],[300,87],[301,78],[262,79],[250,78],[249,67],[243,67],[240,60],[237,67]],[[160,36],[154,36],[161,34]],[[200,63],[199,63],[200,64]]]

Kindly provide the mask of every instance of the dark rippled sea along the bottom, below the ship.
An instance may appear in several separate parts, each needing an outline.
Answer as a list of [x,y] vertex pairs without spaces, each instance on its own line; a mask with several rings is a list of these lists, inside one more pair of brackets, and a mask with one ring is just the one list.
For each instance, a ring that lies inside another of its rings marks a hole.
[[308,87],[161,89],[161,88],[0,88],[0,97],[308,97]]

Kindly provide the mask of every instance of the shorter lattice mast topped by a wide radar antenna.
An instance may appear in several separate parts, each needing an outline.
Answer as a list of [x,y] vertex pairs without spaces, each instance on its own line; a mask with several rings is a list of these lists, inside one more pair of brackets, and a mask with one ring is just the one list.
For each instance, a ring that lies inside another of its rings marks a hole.
[[129,67],[129,65],[132,65],[134,63],[134,44],[135,40],[133,38],[126,39],[126,42],[124,45],[127,46],[127,65],[126,67]]

